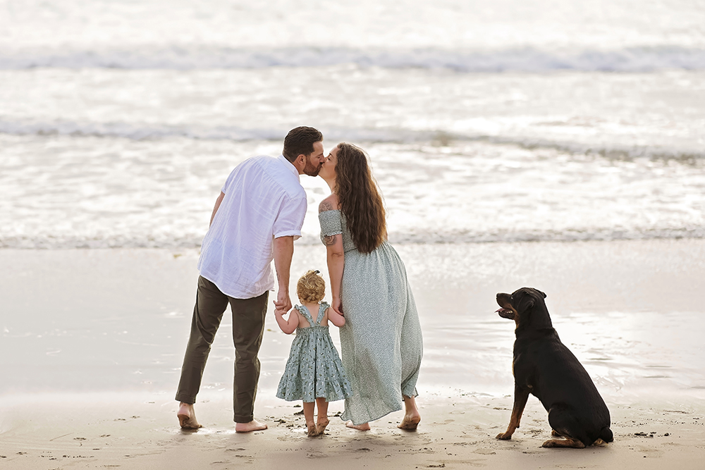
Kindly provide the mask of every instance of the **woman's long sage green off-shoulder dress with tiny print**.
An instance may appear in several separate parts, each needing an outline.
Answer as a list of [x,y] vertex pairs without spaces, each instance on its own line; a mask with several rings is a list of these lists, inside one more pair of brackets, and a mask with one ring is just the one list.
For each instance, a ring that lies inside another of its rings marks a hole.
[[339,210],[319,214],[321,240],[343,235],[345,268],[341,302],[343,366],[353,383],[343,420],[374,421],[402,409],[402,395],[417,395],[423,340],[406,268],[383,242],[372,253],[357,251]]

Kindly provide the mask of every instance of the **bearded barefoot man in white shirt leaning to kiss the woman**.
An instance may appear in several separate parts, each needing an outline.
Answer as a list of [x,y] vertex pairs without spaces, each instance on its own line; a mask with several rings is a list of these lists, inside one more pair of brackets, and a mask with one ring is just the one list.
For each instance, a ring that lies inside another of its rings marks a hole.
[[201,385],[211,344],[228,304],[233,313],[235,431],[266,429],[255,421],[259,346],[269,290],[278,292],[274,307],[289,311],[289,268],[294,240],[301,236],[306,192],[299,175],[318,175],[324,162],[323,136],[314,128],[290,130],[282,155],[255,156],[228,176],[216,200],[198,260],[200,276],[191,333],[176,393],[182,428],[196,429],[193,403]]

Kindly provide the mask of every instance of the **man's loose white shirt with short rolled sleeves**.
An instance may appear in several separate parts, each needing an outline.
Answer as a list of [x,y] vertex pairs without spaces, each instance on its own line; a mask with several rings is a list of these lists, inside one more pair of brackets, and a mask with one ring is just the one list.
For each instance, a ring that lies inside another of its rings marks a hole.
[[274,238],[301,236],[306,192],[282,155],[243,161],[221,192],[225,196],[203,239],[198,269],[229,297],[258,297],[274,289]]

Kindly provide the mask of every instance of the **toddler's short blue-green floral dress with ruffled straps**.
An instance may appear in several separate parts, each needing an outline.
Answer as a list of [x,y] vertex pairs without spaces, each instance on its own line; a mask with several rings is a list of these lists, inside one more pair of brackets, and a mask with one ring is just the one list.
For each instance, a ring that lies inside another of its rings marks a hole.
[[295,306],[310,326],[296,328],[296,338],[291,343],[289,360],[276,390],[277,397],[288,402],[314,402],[321,397],[328,402],[334,402],[353,396],[348,374],[343,369],[328,327],[321,326],[321,320],[328,307],[329,304],[321,302],[318,317],[314,322],[306,307]]

